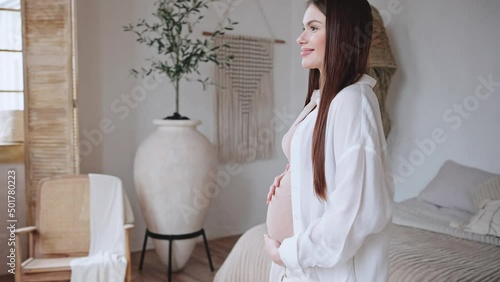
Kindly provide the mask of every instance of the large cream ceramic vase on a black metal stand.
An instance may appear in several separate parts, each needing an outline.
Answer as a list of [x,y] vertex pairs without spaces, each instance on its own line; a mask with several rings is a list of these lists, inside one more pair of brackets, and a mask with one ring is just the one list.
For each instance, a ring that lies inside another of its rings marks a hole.
[[[186,234],[200,230],[215,196],[215,147],[195,120],[154,120],[158,128],[139,146],[134,181],[149,231]],[[151,240],[151,239],[150,239]],[[184,267],[195,239],[173,241],[172,270]],[[155,251],[168,265],[169,243],[153,239]]]

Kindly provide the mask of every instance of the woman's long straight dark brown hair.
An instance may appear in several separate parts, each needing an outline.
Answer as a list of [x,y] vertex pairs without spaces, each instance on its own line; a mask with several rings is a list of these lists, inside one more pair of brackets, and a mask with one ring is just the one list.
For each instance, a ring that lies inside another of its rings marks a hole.
[[305,101],[307,105],[313,91],[321,88],[321,103],[312,140],[312,163],[314,190],[320,199],[326,200],[325,138],[328,110],[337,93],[366,72],[373,18],[367,0],[308,0],[307,7],[309,5],[316,6],[326,16],[323,78],[320,82],[318,69],[309,71]]

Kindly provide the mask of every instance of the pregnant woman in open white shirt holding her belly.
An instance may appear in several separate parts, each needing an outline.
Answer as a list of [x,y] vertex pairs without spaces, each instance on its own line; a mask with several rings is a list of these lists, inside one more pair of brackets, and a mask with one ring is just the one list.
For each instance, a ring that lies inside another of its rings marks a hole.
[[387,281],[394,183],[379,104],[365,74],[367,0],[309,0],[305,106],[282,141],[290,163],[268,194],[270,282]]

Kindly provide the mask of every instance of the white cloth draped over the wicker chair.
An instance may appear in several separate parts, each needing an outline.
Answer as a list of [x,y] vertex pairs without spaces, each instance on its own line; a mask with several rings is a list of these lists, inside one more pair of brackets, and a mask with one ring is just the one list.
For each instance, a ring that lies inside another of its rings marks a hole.
[[122,282],[127,268],[123,224],[133,221],[133,213],[119,178],[89,174],[89,180],[90,250],[71,261],[71,282]]

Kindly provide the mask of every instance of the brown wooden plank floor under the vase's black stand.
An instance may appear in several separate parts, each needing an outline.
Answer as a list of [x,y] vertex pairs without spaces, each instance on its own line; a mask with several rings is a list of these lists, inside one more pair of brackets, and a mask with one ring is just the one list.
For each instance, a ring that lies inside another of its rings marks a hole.
[[[226,259],[240,236],[231,236],[208,242],[215,271],[210,271],[203,243],[196,245],[193,255],[184,269],[172,274],[174,282],[208,282],[213,281],[215,273]],[[161,264],[154,250],[146,252],[144,266],[139,272],[141,252],[132,253],[132,281],[134,282],[166,282],[167,267]],[[14,276],[0,276],[0,282],[14,282]]]

